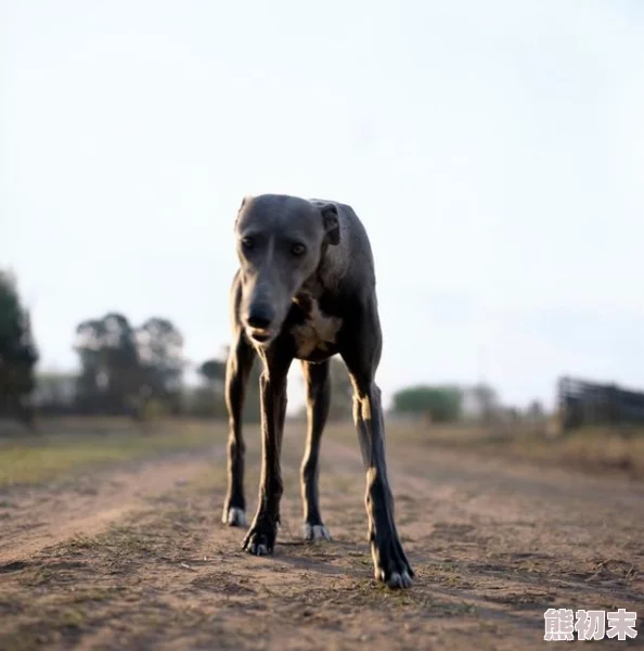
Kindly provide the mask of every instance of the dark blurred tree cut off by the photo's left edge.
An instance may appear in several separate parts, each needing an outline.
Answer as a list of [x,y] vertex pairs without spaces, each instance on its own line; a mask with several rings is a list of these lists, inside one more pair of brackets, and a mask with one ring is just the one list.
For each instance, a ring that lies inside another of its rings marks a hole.
[[29,314],[21,303],[15,278],[0,271],[0,412],[30,421],[37,361]]

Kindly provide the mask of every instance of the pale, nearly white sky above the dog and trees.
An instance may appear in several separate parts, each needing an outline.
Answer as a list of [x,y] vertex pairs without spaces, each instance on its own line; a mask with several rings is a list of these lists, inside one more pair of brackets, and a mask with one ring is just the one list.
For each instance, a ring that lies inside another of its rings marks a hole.
[[639,0],[0,0],[0,266],[41,369],[110,310],[220,354],[261,192],[364,222],[385,399],[644,387]]

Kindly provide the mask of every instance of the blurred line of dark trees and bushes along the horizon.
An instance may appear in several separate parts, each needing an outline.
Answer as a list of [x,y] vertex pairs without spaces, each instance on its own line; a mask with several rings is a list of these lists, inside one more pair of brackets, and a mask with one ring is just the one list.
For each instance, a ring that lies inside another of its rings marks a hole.
[[[78,372],[37,373],[39,353],[28,310],[21,302],[15,278],[0,271],[0,416],[30,422],[35,414],[152,416],[226,418],[224,380],[228,350],[195,368],[198,384],[188,386],[184,337],[169,319],[152,316],[132,323],[111,311],[78,323],[74,349]],[[351,418],[352,387],[339,359],[331,360],[330,420]],[[259,420],[260,363],[253,366],[247,384],[245,419]],[[400,416],[454,422],[467,413],[467,403],[479,417],[498,407],[493,390],[415,385],[394,395],[391,410]],[[304,417],[306,407],[299,416]]]

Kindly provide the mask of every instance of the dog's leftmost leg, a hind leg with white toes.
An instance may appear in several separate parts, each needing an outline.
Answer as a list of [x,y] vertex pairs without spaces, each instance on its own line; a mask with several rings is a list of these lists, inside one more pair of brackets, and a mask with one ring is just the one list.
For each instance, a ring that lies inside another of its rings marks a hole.
[[246,526],[244,496],[244,454],[242,410],[246,383],[255,360],[255,350],[240,330],[230,349],[226,365],[226,406],[229,419],[228,435],[228,494],[221,520],[231,526]]

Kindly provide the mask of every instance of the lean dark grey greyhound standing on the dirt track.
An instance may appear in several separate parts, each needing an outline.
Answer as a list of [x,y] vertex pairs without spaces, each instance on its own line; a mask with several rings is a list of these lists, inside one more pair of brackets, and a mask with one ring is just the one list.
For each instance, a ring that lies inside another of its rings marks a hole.
[[230,292],[234,341],[226,372],[230,430],[222,521],[246,525],[242,409],[246,381],[258,356],[263,367],[259,503],[242,548],[257,556],[272,553],[283,493],[280,451],[286,374],[293,360],[299,359],[308,413],[300,475],[305,538],[331,538],[320,514],[318,460],[331,399],[330,358],[339,354],[353,387],[374,575],[390,588],[408,588],[414,572],[394,521],[381,391],[374,381],[382,331],[366,231],[348,205],[261,194],[244,197],[235,239],[240,268]]

